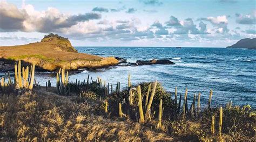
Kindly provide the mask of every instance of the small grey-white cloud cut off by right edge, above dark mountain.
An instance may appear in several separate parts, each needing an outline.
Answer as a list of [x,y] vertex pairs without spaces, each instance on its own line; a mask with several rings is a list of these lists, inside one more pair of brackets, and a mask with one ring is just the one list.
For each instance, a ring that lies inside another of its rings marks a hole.
[[250,15],[235,13],[235,16],[237,17],[236,22],[238,24],[256,24],[256,10],[254,10]]

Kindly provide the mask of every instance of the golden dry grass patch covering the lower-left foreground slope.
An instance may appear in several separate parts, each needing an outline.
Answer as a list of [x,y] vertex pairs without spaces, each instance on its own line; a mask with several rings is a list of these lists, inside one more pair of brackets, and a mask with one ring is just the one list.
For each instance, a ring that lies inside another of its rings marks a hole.
[[97,103],[43,90],[0,97],[2,141],[171,141],[161,131],[130,119],[106,118]]

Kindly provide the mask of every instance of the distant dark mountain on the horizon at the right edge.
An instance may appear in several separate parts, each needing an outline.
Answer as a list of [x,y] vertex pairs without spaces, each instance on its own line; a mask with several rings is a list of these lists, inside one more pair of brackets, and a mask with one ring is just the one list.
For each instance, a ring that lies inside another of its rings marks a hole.
[[227,48],[247,48],[256,49],[256,38],[244,38],[239,40],[236,44],[227,46]]

